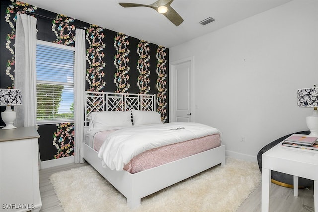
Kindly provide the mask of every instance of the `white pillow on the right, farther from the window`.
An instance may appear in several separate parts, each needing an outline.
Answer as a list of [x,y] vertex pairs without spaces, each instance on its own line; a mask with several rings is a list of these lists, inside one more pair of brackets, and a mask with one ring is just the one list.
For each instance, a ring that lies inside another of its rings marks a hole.
[[144,124],[156,124],[161,123],[161,116],[158,112],[155,111],[140,111],[132,110],[133,113],[133,122],[135,125],[144,125]]

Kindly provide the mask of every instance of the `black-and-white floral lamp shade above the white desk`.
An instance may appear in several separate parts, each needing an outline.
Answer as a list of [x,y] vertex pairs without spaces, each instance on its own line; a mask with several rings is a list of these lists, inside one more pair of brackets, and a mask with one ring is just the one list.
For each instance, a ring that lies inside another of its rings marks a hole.
[[318,88],[298,89],[298,107],[318,107]]

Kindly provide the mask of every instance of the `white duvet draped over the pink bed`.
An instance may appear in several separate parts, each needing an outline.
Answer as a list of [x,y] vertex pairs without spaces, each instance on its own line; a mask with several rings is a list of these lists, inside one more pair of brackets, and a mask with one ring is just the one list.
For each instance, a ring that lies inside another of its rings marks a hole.
[[149,149],[219,133],[216,128],[193,122],[132,126],[109,134],[98,157],[103,167],[120,171],[134,156]]

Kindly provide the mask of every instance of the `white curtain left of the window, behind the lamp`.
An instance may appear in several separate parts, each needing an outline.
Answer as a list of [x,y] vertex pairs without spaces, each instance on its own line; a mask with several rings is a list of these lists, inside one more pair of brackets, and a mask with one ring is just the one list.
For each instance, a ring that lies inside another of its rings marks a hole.
[[22,106],[14,106],[16,127],[36,126],[36,22],[16,14],[14,88],[22,90]]

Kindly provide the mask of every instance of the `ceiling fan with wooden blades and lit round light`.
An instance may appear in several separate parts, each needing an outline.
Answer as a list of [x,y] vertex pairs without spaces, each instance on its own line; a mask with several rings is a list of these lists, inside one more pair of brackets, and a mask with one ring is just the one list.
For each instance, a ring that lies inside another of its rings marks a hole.
[[179,26],[183,19],[182,17],[170,6],[173,0],[158,0],[152,4],[139,4],[139,3],[119,3],[122,7],[149,7],[158,11],[160,14],[166,16],[174,25]]

